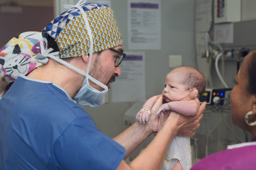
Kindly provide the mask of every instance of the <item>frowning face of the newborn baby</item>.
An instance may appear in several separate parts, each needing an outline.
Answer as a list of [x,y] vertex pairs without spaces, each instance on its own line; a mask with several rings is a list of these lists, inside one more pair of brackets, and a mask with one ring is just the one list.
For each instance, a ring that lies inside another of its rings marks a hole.
[[180,101],[184,99],[189,91],[182,84],[186,76],[183,72],[171,72],[165,77],[163,99],[166,102]]

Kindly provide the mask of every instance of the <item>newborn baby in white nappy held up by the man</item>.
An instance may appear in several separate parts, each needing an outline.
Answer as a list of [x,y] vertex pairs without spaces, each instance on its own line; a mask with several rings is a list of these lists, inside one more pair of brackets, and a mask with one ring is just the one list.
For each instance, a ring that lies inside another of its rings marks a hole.
[[[180,66],[170,71],[164,82],[164,90],[162,92],[163,105],[156,114],[161,117],[158,123],[158,131],[161,129],[163,122],[167,119],[169,111],[175,111],[185,116],[195,115],[200,106],[198,98],[205,91],[205,77],[197,69],[190,66]],[[180,101],[184,99],[194,89],[198,90],[197,98],[189,101]],[[152,98],[158,98],[159,95]],[[154,103],[152,98],[148,99],[143,108],[137,113],[136,119],[139,117],[140,123],[147,123],[150,119],[150,110]],[[162,112],[165,116],[162,117]],[[165,162],[162,169],[190,169],[190,138],[176,136],[168,148]]]

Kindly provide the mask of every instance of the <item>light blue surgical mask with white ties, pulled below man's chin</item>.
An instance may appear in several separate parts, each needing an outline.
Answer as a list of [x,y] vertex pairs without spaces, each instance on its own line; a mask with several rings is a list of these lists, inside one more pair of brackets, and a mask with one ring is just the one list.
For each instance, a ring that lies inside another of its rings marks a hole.
[[[87,32],[89,34],[89,38],[90,38],[89,62],[88,62],[87,72],[84,72],[84,71],[74,67],[73,65],[61,60],[58,55],[59,52],[49,53],[53,49],[52,48],[49,48],[49,49],[44,48],[43,41],[45,41],[45,43],[47,44],[46,38],[43,38],[40,41],[40,48],[41,48],[42,54],[38,54],[34,58],[37,59],[37,61],[39,63],[45,64],[48,62],[47,57],[49,57],[65,66],[67,66],[68,68],[78,72],[79,74],[85,76],[85,78],[83,80],[82,88],[79,90],[79,92],[76,94],[76,96],[74,96],[74,100],[77,102],[77,104],[79,104],[81,106],[88,106],[88,107],[100,106],[105,103],[105,96],[106,96],[106,93],[108,92],[108,87],[105,84],[101,83],[100,81],[94,79],[93,77],[91,77],[89,75],[92,53],[93,53],[93,38],[92,38],[92,33],[91,33],[91,29],[90,29],[90,25],[89,25],[87,16],[86,16],[84,10],[79,6],[79,2],[76,6],[64,5],[64,7],[67,9],[70,9],[72,7],[79,8],[79,10],[82,13],[83,19],[86,23],[86,30],[87,30]],[[104,90],[99,91],[97,89],[94,89],[93,87],[90,86],[89,80],[91,80],[92,82],[94,82],[95,84],[97,84],[98,86],[103,88]]]

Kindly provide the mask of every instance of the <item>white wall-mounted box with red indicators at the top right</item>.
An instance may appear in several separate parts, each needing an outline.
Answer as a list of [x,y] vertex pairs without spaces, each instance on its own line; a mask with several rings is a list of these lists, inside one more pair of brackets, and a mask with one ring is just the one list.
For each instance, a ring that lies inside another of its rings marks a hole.
[[241,0],[214,0],[214,23],[241,21]]

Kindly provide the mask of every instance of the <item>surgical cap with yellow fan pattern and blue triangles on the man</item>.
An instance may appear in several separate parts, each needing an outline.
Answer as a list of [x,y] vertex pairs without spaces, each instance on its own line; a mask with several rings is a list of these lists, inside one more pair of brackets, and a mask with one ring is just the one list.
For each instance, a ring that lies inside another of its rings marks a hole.
[[[81,13],[79,8],[84,12]],[[89,54],[90,38],[83,14],[88,18],[92,33],[93,53],[122,44],[111,8],[95,3],[78,3],[52,20],[42,32],[43,37],[50,35],[55,39],[60,58]]]

